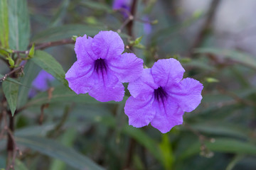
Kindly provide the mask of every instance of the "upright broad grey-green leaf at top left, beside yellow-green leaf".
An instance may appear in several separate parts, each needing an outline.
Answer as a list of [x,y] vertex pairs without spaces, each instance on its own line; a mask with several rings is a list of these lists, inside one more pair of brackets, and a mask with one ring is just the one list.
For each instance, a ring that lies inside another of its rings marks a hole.
[[11,49],[26,50],[29,43],[30,23],[26,0],[8,0],[9,45]]

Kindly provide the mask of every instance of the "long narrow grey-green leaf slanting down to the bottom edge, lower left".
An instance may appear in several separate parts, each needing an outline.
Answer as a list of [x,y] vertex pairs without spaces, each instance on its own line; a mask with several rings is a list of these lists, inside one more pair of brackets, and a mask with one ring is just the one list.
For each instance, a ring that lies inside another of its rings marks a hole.
[[43,137],[16,137],[18,145],[23,145],[34,149],[42,154],[46,154],[49,157],[60,159],[66,164],[73,166],[75,169],[92,169],[102,170],[100,166],[92,162],[89,158],[76,152],[72,148],[64,147],[54,140],[48,140]]

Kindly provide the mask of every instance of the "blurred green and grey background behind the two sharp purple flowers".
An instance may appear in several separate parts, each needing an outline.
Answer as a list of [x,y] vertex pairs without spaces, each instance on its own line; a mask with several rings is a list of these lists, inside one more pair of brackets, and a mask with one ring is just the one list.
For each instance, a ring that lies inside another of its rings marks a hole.
[[[75,96],[50,79],[50,101],[49,90],[30,95],[41,68],[28,62],[19,79],[26,85],[19,96],[27,97],[20,98],[15,120],[22,152],[16,169],[96,169],[93,162],[104,169],[256,169],[256,1],[138,0],[132,26],[124,24],[126,11],[113,10],[113,3],[28,0],[29,42],[119,30],[126,51],[142,58],[146,67],[161,58],[179,60],[184,77],[203,83],[201,105],[166,134],[151,125],[137,129],[128,125],[125,100],[100,103]],[[67,72],[76,60],[73,48],[45,51]],[[9,68],[0,62],[0,73],[6,72]],[[0,168],[6,164],[5,147],[1,140]]]

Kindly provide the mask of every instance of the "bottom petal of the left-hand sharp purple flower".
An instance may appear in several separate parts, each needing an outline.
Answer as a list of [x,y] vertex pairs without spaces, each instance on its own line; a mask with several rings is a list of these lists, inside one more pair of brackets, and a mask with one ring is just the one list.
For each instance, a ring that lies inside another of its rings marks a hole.
[[122,101],[124,98],[124,86],[113,73],[94,73],[91,79],[95,80],[95,84],[89,95],[97,101]]

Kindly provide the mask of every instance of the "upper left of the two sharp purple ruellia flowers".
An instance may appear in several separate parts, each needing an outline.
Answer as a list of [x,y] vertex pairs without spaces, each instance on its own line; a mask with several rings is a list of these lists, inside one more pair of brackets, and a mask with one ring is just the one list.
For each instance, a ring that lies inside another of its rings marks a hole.
[[76,94],[89,93],[97,101],[122,101],[123,82],[132,82],[143,71],[143,60],[123,53],[124,42],[113,31],[100,31],[94,38],[78,37],[77,61],[65,74]]

